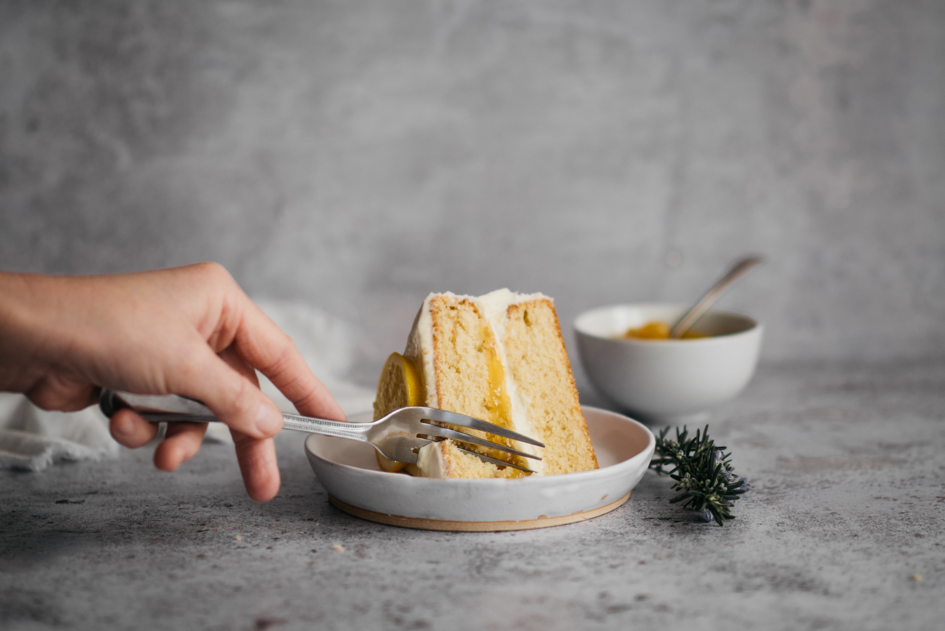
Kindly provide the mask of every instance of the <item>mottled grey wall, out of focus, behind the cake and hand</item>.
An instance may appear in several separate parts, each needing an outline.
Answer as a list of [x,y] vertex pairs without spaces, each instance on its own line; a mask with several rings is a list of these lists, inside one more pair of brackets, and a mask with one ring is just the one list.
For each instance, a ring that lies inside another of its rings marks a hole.
[[355,322],[726,303],[767,359],[945,353],[945,2],[0,1],[0,267],[215,259]]

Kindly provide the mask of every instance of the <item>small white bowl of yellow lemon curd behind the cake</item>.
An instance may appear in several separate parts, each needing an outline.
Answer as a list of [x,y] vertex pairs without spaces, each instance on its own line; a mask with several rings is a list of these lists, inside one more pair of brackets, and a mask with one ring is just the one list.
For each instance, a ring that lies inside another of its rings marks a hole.
[[711,310],[681,340],[669,329],[688,307],[599,307],[575,321],[577,350],[594,388],[645,420],[695,423],[742,392],[754,374],[762,325]]

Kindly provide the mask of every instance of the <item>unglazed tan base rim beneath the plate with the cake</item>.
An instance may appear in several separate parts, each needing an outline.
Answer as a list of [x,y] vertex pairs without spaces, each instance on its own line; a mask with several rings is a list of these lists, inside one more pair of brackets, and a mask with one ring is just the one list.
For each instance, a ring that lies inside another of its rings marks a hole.
[[416,528],[418,530],[443,530],[455,533],[499,533],[507,530],[551,528],[552,526],[563,526],[564,524],[573,524],[576,521],[584,521],[585,519],[598,517],[622,506],[624,502],[630,499],[630,494],[627,493],[627,495],[620,500],[611,501],[610,504],[595,508],[591,511],[577,511],[576,513],[563,517],[545,517],[540,515],[537,519],[524,519],[522,521],[450,521],[448,519],[404,517],[403,515],[387,515],[386,513],[369,511],[366,508],[358,508],[357,506],[346,504],[331,495],[328,496],[328,499],[345,513],[349,513],[354,517],[368,519],[369,521],[387,524],[388,526]]

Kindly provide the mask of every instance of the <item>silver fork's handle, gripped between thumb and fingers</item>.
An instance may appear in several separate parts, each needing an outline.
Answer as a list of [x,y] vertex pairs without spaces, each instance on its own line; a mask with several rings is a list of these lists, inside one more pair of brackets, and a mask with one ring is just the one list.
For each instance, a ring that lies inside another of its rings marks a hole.
[[[98,407],[108,417],[129,408],[148,423],[222,423],[214,412],[197,399],[179,394],[131,394],[102,388]],[[295,429],[325,436],[368,442],[370,423],[348,423],[327,418],[311,418],[283,412],[283,429]]]

